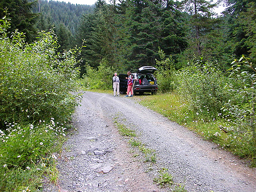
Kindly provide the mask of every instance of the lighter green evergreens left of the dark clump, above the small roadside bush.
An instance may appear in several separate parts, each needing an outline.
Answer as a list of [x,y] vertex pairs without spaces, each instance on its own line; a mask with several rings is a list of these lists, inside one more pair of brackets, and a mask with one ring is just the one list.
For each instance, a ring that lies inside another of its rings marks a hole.
[[113,63],[113,22],[110,5],[101,0],[96,3],[93,14],[84,15],[78,32],[79,39],[86,41],[81,53],[83,65],[87,62],[92,67],[98,67],[103,58]]

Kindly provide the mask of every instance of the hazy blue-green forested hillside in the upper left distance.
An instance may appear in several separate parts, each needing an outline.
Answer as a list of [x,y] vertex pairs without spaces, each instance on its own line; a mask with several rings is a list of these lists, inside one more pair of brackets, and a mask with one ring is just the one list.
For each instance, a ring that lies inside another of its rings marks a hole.
[[82,15],[93,13],[94,8],[95,5],[74,5],[65,2],[38,0],[37,7],[33,8],[32,12],[41,13],[40,22],[44,21],[44,24],[41,25],[58,26],[63,23],[74,34]]

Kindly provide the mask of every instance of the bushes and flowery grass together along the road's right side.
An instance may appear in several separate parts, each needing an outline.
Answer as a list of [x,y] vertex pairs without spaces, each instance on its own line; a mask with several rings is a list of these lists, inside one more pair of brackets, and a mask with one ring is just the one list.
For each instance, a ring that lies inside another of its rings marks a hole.
[[[140,97],[140,102],[245,158],[256,166],[255,64],[242,56],[232,67],[194,60],[174,70],[172,59],[158,61],[156,76],[162,93]],[[170,66],[168,66],[170,65]],[[169,78],[165,76],[169,75]],[[168,81],[169,79],[169,81]]]

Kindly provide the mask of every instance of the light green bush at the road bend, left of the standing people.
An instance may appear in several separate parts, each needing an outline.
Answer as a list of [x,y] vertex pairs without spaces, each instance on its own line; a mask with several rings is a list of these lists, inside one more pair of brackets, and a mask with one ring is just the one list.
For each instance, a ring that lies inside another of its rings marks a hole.
[[81,80],[86,89],[112,89],[114,69],[109,67],[104,60],[100,63],[98,70],[87,65],[86,71],[87,73]]

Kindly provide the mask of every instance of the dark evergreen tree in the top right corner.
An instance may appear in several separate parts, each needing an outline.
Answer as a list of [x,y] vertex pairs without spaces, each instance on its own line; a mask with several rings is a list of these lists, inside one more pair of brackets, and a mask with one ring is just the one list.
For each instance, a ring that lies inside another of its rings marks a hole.
[[227,0],[225,10],[228,17],[229,36],[227,39],[231,53],[236,56],[250,55],[255,58],[255,2],[252,0]]

